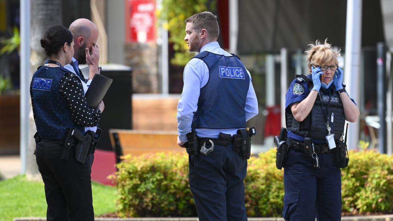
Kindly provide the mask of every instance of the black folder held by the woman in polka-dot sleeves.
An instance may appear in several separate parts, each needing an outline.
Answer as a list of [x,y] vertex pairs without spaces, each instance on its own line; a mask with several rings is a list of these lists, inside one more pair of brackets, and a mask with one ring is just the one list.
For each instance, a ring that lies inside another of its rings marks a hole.
[[89,88],[86,91],[85,96],[87,105],[90,108],[97,108],[99,102],[102,101],[111,84],[112,79],[101,74],[95,74]]

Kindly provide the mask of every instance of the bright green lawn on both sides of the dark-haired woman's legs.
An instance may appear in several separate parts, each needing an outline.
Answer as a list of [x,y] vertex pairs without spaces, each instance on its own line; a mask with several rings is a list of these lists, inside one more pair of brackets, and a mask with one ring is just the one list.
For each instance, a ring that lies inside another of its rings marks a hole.
[[[115,212],[116,188],[92,182],[95,216]],[[14,217],[46,217],[44,183],[24,175],[0,181],[0,221]]]

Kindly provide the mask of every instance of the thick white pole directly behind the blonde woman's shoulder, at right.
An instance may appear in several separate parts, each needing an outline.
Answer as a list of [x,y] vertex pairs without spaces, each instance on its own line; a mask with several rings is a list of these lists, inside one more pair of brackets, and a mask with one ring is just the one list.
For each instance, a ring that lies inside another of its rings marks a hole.
[[[362,0],[347,0],[347,27],[345,37],[345,71],[344,82],[349,96],[359,102],[360,57],[362,42]],[[348,127],[348,149],[359,144],[359,120]]]

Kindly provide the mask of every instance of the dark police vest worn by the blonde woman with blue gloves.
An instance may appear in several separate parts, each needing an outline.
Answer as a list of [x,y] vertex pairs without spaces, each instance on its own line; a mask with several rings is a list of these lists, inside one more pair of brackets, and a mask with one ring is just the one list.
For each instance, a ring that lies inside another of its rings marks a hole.
[[[306,81],[309,88],[312,88],[312,81],[308,77],[304,75],[300,77]],[[329,103],[328,92],[331,95],[329,109],[327,109]],[[327,121],[331,127],[330,133],[334,134],[334,140],[339,140],[344,132],[345,114],[340,94],[332,88],[329,90],[320,89],[320,94],[317,95],[311,112],[302,122],[298,122],[292,113],[286,113],[286,129],[300,136],[326,139],[325,136],[329,133],[326,129],[324,112],[327,112]]]

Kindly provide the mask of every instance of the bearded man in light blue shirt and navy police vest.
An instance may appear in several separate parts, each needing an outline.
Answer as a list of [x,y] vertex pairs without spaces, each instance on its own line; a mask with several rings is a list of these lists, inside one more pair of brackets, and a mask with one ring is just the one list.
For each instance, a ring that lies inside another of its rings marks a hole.
[[246,221],[243,179],[247,158],[233,147],[231,136],[244,130],[246,121],[258,113],[251,76],[236,55],[220,48],[215,15],[202,12],[185,22],[184,40],[189,51],[199,54],[184,68],[178,145],[185,147],[186,134],[195,126],[200,145],[195,153],[189,151],[189,181],[198,217],[201,221]]

